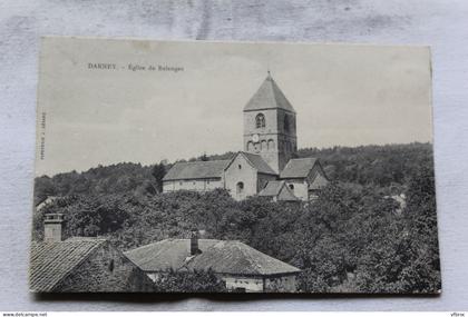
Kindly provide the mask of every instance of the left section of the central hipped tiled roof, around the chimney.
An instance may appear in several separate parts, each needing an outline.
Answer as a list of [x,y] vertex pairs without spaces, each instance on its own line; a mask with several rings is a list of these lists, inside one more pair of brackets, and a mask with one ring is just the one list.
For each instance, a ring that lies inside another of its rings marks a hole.
[[[125,255],[146,271],[179,269],[191,256],[189,241],[189,239],[166,239],[126,251]],[[198,249],[205,251],[217,241],[198,239]]]

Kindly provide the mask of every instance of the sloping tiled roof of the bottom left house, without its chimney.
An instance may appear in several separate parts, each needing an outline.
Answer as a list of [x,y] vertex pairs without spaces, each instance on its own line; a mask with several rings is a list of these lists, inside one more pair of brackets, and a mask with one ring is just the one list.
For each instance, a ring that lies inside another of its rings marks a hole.
[[59,242],[32,242],[29,285],[32,291],[51,291],[106,239],[71,238]]

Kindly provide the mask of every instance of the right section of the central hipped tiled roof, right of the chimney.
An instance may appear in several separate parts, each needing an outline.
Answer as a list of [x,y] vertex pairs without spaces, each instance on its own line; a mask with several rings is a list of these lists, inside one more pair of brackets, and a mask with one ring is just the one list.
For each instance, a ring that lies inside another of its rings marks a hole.
[[276,275],[300,269],[235,240],[218,241],[187,264],[188,269],[213,269],[232,275]]

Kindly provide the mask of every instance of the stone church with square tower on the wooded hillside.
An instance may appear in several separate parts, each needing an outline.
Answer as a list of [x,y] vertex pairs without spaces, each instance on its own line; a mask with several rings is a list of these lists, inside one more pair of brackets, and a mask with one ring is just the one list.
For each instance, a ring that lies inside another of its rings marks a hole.
[[294,158],[296,112],[270,71],[244,107],[244,151],[230,160],[176,162],[163,191],[225,188],[236,200],[264,196],[309,201],[329,179],[316,158]]

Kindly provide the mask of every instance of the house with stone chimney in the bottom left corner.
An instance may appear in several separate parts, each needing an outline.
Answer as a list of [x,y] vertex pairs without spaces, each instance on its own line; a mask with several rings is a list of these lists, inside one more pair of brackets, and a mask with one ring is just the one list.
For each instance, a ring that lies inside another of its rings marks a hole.
[[108,240],[62,240],[64,216],[48,214],[45,240],[31,245],[29,284],[36,293],[152,291],[153,281]]

